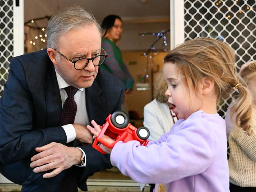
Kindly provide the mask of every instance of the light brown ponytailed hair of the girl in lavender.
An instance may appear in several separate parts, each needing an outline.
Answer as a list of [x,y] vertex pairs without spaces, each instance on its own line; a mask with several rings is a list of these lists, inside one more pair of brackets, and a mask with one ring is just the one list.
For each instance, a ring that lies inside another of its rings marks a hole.
[[164,57],[164,63],[168,62],[177,65],[185,83],[191,81],[196,92],[202,78],[213,79],[218,103],[227,99],[236,87],[239,98],[233,106],[235,123],[244,130],[249,130],[252,97],[244,81],[237,75],[232,48],[215,39],[192,39],[171,50]]

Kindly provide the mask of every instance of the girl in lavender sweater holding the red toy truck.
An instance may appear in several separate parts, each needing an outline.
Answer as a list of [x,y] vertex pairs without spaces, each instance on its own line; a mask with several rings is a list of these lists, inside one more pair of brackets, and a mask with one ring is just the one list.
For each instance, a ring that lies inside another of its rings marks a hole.
[[[234,51],[209,38],[189,40],[164,58],[166,95],[179,120],[156,142],[118,142],[110,160],[124,175],[139,183],[158,183],[155,192],[228,192],[226,127],[217,104],[236,87],[243,103],[236,122],[247,127],[250,95],[235,71]],[[92,121],[97,136],[101,127]],[[247,129],[247,128],[245,128]],[[94,136],[94,138],[95,138]],[[110,140],[110,138],[108,138]]]

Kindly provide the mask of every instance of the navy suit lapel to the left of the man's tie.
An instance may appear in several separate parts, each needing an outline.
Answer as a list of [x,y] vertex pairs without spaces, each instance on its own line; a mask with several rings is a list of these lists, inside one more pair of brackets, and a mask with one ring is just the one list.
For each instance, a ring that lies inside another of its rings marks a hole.
[[58,126],[62,111],[62,101],[53,64],[48,64],[45,79],[45,102],[47,106],[47,127]]

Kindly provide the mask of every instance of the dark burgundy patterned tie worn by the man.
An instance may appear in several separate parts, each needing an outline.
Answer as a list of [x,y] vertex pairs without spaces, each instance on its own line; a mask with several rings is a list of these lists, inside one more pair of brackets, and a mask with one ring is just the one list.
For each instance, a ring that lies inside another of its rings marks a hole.
[[[77,113],[77,104],[74,99],[75,93],[77,93],[77,88],[69,86],[64,88],[67,92],[67,99],[65,100],[62,108],[62,114],[60,117],[60,125],[67,125],[69,123],[74,123],[75,116]],[[75,168],[66,170],[64,179],[61,181],[61,192],[77,192],[77,177]]]

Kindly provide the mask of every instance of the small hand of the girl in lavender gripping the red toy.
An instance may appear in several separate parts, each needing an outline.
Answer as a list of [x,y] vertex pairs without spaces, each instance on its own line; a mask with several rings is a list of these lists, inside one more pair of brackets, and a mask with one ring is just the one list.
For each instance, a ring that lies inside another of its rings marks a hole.
[[[93,125],[93,127],[91,127],[90,125],[87,125],[86,126],[86,128],[88,129],[88,130],[90,130],[90,132],[93,134],[93,139],[95,139],[97,136],[99,136],[99,133],[101,132],[101,126],[100,125],[98,125],[94,120],[92,120],[92,125]],[[110,138],[109,136],[107,136],[107,135],[103,135],[103,138],[104,138],[104,140],[106,140],[108,143],[113,143],[114,142],[114,140],[112,139],[112,138]],[[101,147],[101,149],[105,152],[105,153],[108,153],[108,154],[110,154],[111,153],[111,151],[112,151],[112,148],[108,148],[108,147],[106,147],[105,145],[103,145],[103,144],[99,144],[99,147]]]

